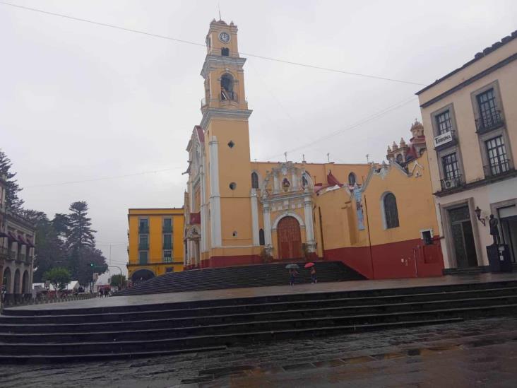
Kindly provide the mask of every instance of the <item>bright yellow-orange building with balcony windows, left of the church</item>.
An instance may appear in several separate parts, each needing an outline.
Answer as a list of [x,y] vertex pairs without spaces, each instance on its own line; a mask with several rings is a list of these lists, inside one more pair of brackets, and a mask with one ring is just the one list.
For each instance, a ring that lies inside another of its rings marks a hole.
[[183,271],[183,208],[130,208],[128,225],[129,279]]

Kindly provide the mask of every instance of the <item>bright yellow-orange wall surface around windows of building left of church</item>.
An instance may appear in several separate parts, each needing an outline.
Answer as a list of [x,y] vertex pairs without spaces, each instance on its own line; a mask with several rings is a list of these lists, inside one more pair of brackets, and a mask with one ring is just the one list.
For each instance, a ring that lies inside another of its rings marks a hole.
[[[139,265],[138,262],[138,220],[148,218],[149,220],[149,249],[148,265]],[[163,261],[163,219],[172,218],[172,263]],[[129,264],[128,276],[131,278],[133,272],[138,269],[149,269],[155,276],[166,273],[167,268],[174,268],[174,272],[183,271],[183,233],[184,233],[184,211],[183,208],[141,208],[129,209]]]

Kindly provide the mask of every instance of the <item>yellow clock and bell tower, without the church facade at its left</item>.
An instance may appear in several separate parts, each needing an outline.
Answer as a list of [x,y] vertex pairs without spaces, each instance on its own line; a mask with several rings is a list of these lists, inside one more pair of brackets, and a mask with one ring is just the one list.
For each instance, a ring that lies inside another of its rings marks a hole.
[[[208,266],[232,265],[231,257],[254,254],[245,58],[239,56],[237,25],[212,20],[201,69],[205,95],[201,128],[208,148],[206,201],[210,228]],[[208,225],[207,225],[208,227]],[[258,244],[258,242],[257,242]]]

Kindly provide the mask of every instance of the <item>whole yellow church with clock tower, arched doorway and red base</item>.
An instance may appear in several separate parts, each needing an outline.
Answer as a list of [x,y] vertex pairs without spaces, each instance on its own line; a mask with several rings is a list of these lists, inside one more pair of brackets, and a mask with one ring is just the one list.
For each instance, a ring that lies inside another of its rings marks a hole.
[[422,124],[388,147],[388,164],[251,162],[237,26],[213,20],[206,49],[186,148],[186,269],[322,259],[367,278],[441,275]]

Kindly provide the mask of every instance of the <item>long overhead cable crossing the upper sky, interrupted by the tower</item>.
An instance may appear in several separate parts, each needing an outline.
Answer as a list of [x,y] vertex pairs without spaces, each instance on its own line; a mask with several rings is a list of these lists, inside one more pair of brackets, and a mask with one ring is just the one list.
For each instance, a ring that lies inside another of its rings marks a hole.
[[[141,35],[148,35],[150,37],[158,37],[160,39],[172,40],[174,42],[184,43],[186,45],[194,45],[194,46],[206,47],[206,45],[204,45],[203,43],[192,42],[191,40],[184,40],[184,39],[178,39],[176,37],[170,37],[170,36],[167,36],[167,35],[148,33],[148,32],[143,31],[143,30],[135,30],[133,28],[121,27],[120,25],[114,25],[114,24],[109,24],[109,23],[97,22],[95,20],[89,20],[89,19],[84,19],[84,18],[76,18],[75,16],[65,15],[64,13],[56,13],[56,12],[44,11],[44,10],[38,9],[38,8],[31,8],[31,7],[28,7],[28,6],[20,6],[18,4],[7,3],[6,1],[0,1],[0,4],[4,4],[6,6],[12,6],[12,7],[24,9],[25,11],[40,12],[40,13],[44,13],[46,15],[59,16],[60,18],[67,18],[67,19],[71,19],[71,20],[81,21],[83,23],[90,23],[90,24],[94,24],[94,25],[100,25],[102,27],[115,28],[117,30],[123,30],[123,31],[129,32],[129,33],[136,33],[136,34],[141,34]],[[397,79],[397,78],[373,76],[371,74],[362,74],[362,73],[357,73],[357,72],[354,72],[354,71],[345,71],[345,70],[340,70],[340,69],[333,69],[331,67],[316,66],[316,65],[313,65],[313,64],[302,64],[302,63],[296,62],[296,61],[287,61],[286,59],[278,59],[278,58],[273,58],[273,57],[266,57],[264,55],[251,54],[249,52],[240,52],[240,54],[243,54],[243,55],[245,55],[247,57],[254,57],[254,58],[258,58],[258,59],[264,59],[266,61],[275,61],[275,62],[280,62],[280,63],[283,63],[283,64],[290,64],[290,65],[293,65],[293,66],[302,66],[302,67],[305,67],[307,69],[317,69],[317,70],[323,70],[323,71],[331,71],[333,73],[347,74],[349,76],[359,76],[359,77],[365,77],[365,78],[378,79],[378,80],[381,80],[381,81],[390,81],[390,82],[397,82],[397,83],[407,83],[409,85],[415,85],[415,86],[427,86],[427,83],[419,83],[419,82],[414,82],[414,81],[405,81],[405,80],[401,80],[401,79]]]

